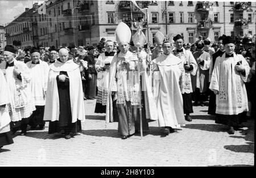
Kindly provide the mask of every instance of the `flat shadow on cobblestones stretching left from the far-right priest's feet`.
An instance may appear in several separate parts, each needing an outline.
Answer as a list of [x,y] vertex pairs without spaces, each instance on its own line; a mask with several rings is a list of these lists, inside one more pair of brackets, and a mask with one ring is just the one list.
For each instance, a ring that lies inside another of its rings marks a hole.
[[227,127],[217,124],[186,124],[183,128],[205,130],[212,132],[226,132]]

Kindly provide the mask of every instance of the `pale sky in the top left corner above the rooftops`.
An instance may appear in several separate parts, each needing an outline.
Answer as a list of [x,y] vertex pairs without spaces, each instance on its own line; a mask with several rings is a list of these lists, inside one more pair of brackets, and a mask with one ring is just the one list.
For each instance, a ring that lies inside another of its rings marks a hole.
[[0,26],[5,26],[14,20],[14,16],[18,16],[25,11],[25,8],[31,8],[32,3],[38,2],[40,5],[42,0],[0,0]]

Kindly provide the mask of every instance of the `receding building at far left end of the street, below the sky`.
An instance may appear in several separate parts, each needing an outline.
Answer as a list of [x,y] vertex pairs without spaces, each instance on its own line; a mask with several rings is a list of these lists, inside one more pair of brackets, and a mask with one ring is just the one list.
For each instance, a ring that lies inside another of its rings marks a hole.
[[38,4],[29,9],[26,8],[24,13],[15,18],[5,27],[6,43],[13,44],[24,48],[28,45],[32,46],[32,13],[38,8]]

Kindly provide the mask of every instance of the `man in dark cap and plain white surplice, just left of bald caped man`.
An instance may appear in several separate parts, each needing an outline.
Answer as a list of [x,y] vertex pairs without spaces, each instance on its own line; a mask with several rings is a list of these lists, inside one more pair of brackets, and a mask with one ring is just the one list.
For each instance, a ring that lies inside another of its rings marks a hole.
[[30,117],[31,129],[44,130],[45,121],[43,121],[44,105],[46,105],[46,90],[48,82],[49,65],[40,60],[40,49],[32,48],[30,51],[31,61],[28,61],[27,67],[31,74],[31,94],[34,97],[36,110]]

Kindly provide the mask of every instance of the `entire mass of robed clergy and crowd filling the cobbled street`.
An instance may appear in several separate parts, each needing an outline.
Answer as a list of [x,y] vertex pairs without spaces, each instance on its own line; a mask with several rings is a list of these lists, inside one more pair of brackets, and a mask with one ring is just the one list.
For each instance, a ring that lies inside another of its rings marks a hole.
[[0,151],[34,131],[75,140],[87,124],[87,101],[126,141],[151,134],[152,122],[162,136],[182,135],[197,119],[195,107],[207,106],[205,115],[229,135],[255,118],[255,35],[222,34],[217,43],[199,35],[189,43],[183,33],[158,30],[151,43],[143,29],[123,20],[114,39],[96,45],[5,45]]

